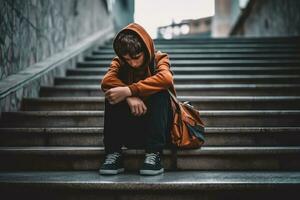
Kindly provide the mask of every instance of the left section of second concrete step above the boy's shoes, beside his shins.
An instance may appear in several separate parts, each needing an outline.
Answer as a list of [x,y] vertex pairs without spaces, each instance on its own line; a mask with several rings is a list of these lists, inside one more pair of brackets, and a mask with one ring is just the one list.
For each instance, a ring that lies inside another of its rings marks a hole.
[[0,132],[0,146],[103,146],[103,127],[0,128]]

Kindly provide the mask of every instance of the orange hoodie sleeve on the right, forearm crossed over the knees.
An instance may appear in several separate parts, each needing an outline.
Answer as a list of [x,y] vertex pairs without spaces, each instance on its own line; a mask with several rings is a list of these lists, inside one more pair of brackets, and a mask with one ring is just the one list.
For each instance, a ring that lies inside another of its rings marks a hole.
[[147,97],[173,85],[173,73],[170,71],[168,55],[157,52],[155,60],[157,63],[155,75],[128,86],[132,96]]

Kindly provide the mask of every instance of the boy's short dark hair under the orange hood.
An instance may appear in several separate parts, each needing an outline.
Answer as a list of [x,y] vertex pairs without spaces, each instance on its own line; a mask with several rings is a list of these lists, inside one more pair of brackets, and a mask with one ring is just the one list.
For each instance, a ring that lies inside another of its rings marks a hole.
[[115,38],[114,49],[118,56],[129,54],[130,57],[135,57],[140,52],[145,52],[144,43],[140,37],[132,31],[119,33]]

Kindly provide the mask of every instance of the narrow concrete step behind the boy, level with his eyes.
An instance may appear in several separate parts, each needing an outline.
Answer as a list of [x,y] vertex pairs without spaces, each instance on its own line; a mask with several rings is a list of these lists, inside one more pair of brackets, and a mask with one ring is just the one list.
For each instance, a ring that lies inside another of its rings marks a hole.
[[[282,54],[169,54],[170,60],[222,60],[222,59],[253,59],[253,60],[268,60],[268,59],[299,59],[299,53],[282,53]],[[111,61],[114,55],[91,55],[86,56],[86,61]]]

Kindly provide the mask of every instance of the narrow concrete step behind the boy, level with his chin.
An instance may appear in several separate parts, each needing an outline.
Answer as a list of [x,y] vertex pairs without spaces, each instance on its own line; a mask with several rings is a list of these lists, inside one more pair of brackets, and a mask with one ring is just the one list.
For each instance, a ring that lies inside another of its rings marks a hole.
[[[77,62],[78,68],[88,67],[108,67],[111,61],[82,61]],[[244,66],[296,66],[300,67],[299,59],[272,59],[272,60],[175,60],[172,66],[176,67],[244,67]]]

